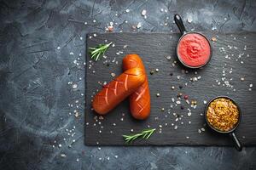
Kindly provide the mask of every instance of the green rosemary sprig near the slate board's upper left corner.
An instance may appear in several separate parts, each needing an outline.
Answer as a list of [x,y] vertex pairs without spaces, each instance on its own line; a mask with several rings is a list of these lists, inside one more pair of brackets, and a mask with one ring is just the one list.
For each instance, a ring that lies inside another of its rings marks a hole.
[[108,44],[99,44],[96,48],[89,48],[90,49],[90,59],[99,60],[102,58],[102,55],[108,50],[109,46],[112,42]]

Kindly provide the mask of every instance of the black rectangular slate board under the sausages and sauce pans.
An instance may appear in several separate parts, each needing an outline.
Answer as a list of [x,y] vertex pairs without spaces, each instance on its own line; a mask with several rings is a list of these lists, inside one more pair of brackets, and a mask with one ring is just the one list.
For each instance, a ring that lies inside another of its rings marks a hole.
[[[113,42],[115,46],[109,48],[106,54],[107,59],[94,62],[90,61],[89,54],[86,56],[85,144],[124,145],[122,134],[131,133],[131,129],[134,133],[137,133],[149,125],[157,128],[156,133],[148,140],[137,140],[130,145],[231,146],[233,144],[228,135],[213,133],[205,127],[204,116],[201,116],[205,108],[204,100],[208,101],[218,95],[228,95],[241,106],[241,124],[236,130],[238,138],[246,146],[255,145],[256,95],[254,87],[250,91],[249,85],[256,84],[256,33],[204,33],[209,39],[214,36],[218,40],[212,42],[210,63],[203,69],[197,70],[197,74],[195,74],[195,70],[191,71],[183,68],[178,63],[172,65],[175,62],[174,60],[177,60],[175,48],[180,37],[178,33],[92,33],[87,35],[87,52],[90,47],[95,47],[99,43],[107,43],[106,40]],[[127,45],[126,48],[124,48],[125,45]],[[123,54],[120,54],[119,51]],[[116,75],[121,73],[122,58],[125,54],[139,54],[143,59],[148,71],[151,92],[151,116],[143,122],[134,120],[129,113],[129,103],[125,100],[107,116],[104,116],[103,120],[97,118],[96,121],[96,114],[91,111],[90,106],[96,89],[102,87],[98,82],[111,81],[113,79],[110,75],[112,72]],[[172,59],[166,59],[168,55]],[[113,59],[118,61],[118,64],[112,62]],[[106,60],[110,60],[109,66],[104,64]],[[160,71],[150,75],[149,71],[156,68]],[[189,71],[189,73],[184,73],[184,70]],[[172,77],[170,73],[173,73]],[[191,77],[201,78],[197,82],[191,82]],[[232,87],[223,86],[222,77],[225,77]],[[245,78],[243,82],[241,77]],[[216,80],[219,80],[221,84],[218,85]],[[181,84],[183,88],[179,89],[178,86]],[[172,90],[172,86],[175,89]],[[155,95],[157,93],[160,93],[159,98]],[[172,98],[177,100],[178,93],[188,94],[189,99],[196,99],[197,107],[195,109],[191,108],[184,99],[182,99],[183,110],[180,109],[180,105],[175,106]],[[174,107],[171,108],[170,105],[174,105]],[[164,112],[160,111],[162,107],[165,108]],[[191,116],[188,116],[188,108],[192,112]],[[182,119],[176,122],[173,112],[183,116]],[[121,121],[122,118],[123,121]],[[160,125],[162,126],[161,133]],[[175,125],[177,125],[177,129],[174,129]],[[198,132],[201,127],[205,128],[205,132]]]

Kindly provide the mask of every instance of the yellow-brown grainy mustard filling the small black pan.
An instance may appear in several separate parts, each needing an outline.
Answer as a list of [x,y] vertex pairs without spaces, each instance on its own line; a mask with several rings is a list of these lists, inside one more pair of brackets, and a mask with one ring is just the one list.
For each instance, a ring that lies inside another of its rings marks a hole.
[[207,108],[207,121],[220,131],[230,131],[239,119],[239,110],[234,102],[226,98],[214,99]]

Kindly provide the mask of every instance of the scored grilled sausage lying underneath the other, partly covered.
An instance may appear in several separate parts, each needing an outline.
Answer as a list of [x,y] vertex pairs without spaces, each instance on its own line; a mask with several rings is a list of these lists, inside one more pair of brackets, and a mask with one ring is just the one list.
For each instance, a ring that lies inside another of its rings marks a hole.
[[[123,70],[131,68],[141,68],[144,74],[146,71],[143,65],[143,60],[137,54],[128,54],[123,59]],[[150,93],[148,87],[148,77],[145,82],[137,88],[136,92],[130,96],[131,115],[139,120],[146,119],[150,114]]]

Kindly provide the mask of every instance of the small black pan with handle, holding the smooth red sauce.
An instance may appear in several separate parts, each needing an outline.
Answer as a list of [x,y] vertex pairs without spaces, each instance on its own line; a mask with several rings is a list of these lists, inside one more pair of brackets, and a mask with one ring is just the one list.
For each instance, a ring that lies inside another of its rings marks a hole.
[[[176,53],[177,53],[177,48],[178,48],[178,45],[179,45],[179,42],[183,39],[183,37],[185,37],[187,34],[199,34],[201,35],[202,37],[205,37],[205,39],[207,40],[207,42],[209,43],[209,46],[210,46],[210,56],[209,56],[209,59],[207,60],[207,62],[204,64],[204,65],[207,65],[207,63],[211,60],[212,58],[212,45],[210,43],[210,41],[207,39],[207,37],[203,34],[201,34],[200,32],[196,32],[196,31],[186,31],[185,29],[185,26],[183,25],[183,20],[182,18],[180,17],[180,15],[178,14],[175,14],[174,15],[174,21],[179,29],[179,31],[181,32],[182,34],[182,37],[179,38],[178,42],[177,42],[177,46],[176,46]],[[198,68],[201,68],[202,66],[204,65],[199,65],[199,66],[191,66],[191,65],[187,65],[183,62],[183,60],[181,59],[181,57],[179,56],[179,54],[177,53],[177,59],[180,61],[180,63],[182,63],[184,66],[190,68],[190,69],[198,69]]]

